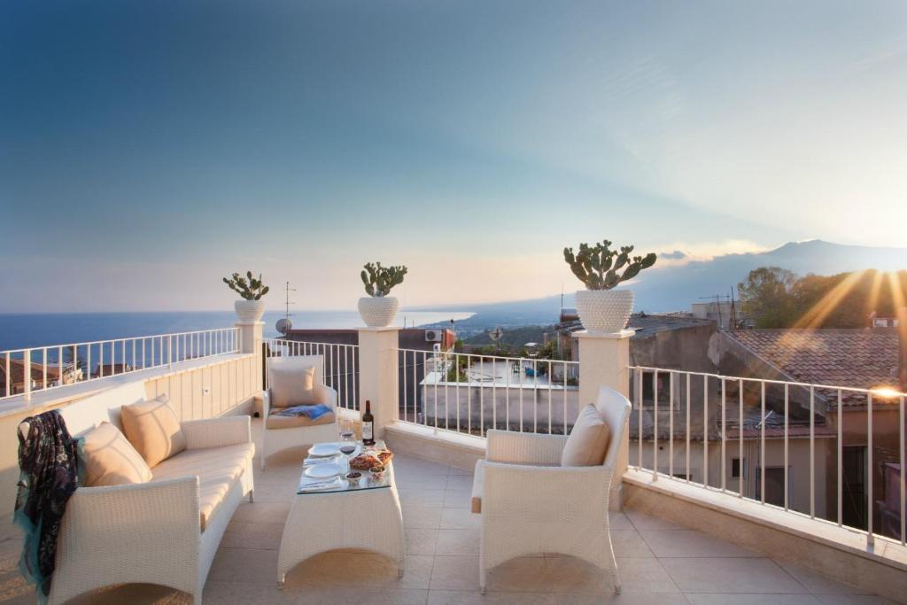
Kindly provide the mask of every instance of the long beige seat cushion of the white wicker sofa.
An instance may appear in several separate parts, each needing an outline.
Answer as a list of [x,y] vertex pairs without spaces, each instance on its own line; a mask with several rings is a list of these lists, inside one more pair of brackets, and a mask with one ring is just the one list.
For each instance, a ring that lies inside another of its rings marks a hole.
[[204,532],[229,489],[250,468],[253,455],[254,444],[186,450],[151,469],[152,481],[198,475],[200,524]]

